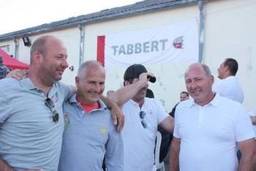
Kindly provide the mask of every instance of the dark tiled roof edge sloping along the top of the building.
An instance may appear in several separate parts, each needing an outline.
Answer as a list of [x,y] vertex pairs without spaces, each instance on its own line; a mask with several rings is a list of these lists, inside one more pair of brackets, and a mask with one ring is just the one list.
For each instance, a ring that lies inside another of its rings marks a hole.
[[[148,12],[156,12],[162,9],[173,9],[197,4],[198,0],[160,0],[154,3],[148,3],[148,0],[139,1],[124,7],[115,7],[112,9],[104,9],[100,12],[94,12],[88,15],[80,15],[78,17],[59,20],[52,23],[45,23],[31,28],[25,28],[19,31],[13,31],[0,35],[0,41],[11,40],[23,36],[31,36],[34,34],[42,34],[48,31],[56,31],[64,28],[74,28],[79,24],[86,25],[91,23],[99,23],[106,20],[114,20],[118,18],[127,18],[135,15],[142,15]],[[151,1],[150,1],[151,2]],[[143,7],[141,7],[143,6]]]

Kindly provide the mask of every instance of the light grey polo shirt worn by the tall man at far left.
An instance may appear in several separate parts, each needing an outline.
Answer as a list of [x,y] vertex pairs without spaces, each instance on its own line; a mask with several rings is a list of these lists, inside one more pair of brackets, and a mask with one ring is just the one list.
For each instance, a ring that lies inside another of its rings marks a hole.
[[15,170],[57,170],[64,119],[62,104],[72,96],[69,86],[55,83],[48,97],[59,112],[53,122],[45,94],[29,78],[0,80],[0,157]]

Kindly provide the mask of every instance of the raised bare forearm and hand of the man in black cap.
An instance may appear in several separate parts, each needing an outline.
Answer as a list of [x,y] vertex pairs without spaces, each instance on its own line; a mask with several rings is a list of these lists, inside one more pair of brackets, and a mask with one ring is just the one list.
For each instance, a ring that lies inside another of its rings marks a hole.
[[148,86],[148,76],[154,77],[153,74],[144,72],[140,75],[139,79],[135,78],[138,79],[135,83],[129,84],[126,81],[123,88],[110,92],[108,94],[108,98],[116,102],[118,106],[122,106],[129,99],[132,99],[132,97],[135,96],[141,88]]

